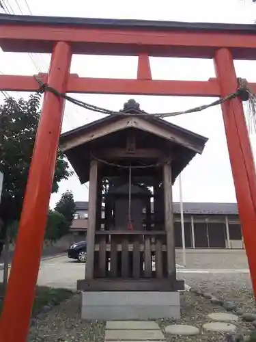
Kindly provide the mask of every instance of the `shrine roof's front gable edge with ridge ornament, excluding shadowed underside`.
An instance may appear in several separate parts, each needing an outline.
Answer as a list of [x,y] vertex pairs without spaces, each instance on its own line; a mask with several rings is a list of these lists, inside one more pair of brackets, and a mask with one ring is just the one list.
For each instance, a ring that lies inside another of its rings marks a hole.
[[[192,131],[188,131],[176,124],[157,118],[148,114],[147,116],[139,107],[139,103],[129,100],[124,104],[124,109],[119,111],[120,115],[110,115],[85,124],[81,127],[61,134],[61,149],[66,152],[72,148],[86,144],[105,135],[128,128],[141,129],[153,135],[160,135],[166,140],[180,144],[195,153],[202,153],[208,138]],[[129,116],[130,114],[130,116]],[[134,115],[137,114],[137,115]],[[118,124],[119,123],[119,124]],[[150,125],[149,125],[150,123]],[[144,124],[144,125],[143,125]],[[105,129],[104,129],[105,127]],[[157,130],[160,129],[160,131]],[[97,130],[100,130],[96,133]]]

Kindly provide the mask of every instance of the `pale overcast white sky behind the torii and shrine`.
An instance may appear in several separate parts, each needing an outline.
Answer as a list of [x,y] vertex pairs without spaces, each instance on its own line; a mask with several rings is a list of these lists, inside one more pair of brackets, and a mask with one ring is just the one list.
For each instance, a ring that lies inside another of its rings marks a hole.
[[[11,14],[42,16],[79,16],[87,18],[144,19],[156,21],[189,21],[208,23],[248,23],[256,21],[256,4],[251,0],[3,0]],[[3,12],[3,11],[2,11]],[[5,75],[34,75],[46,73],[50,56],[46,54],[4,53],[0,50],[0,73]],[[212,60],[150,58],[153,79],[180,79],[206,81],[214,77]],[[256,82],[256,62],[235,61],[238,77]],[[72,57],[71,73],[81,77],[136,78],[137,57],[84,56]],[[29,95],[11,93],[14,97]],[[214,98],[171,96],[126,96],[100,94],[73,94],[93,105],[113,110],[122,109],[129,98],[140,103],[149,112],[180,111],[214,101]],[[0,101],[3,96],[0,94]],[[66,103],[62,132],[101,118],[100,114]],[[233,179],[227,152],[227,142],[221,108],[213,107],[200,113],[169,118],[170,122],[208,137],[202,155],[197,155],[182,172],[184,202],[236,202]],[[251,134],[253,153],[256,153],[256,135]],[[81,185],[76,174],[59,183],[59,192],[51,196],[51,207],[61,194],[71,190],[74,200],[88,200],[88,184]],[[173,200],[178,201],[179,188],[173,186]]]

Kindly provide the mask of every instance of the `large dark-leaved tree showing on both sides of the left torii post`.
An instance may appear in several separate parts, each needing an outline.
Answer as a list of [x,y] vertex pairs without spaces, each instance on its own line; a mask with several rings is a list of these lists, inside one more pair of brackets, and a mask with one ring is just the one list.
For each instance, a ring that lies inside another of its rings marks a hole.
[[[0,171],[4,174],[0,204],[1,241],[5,238],[6,227],[20,218],[39,119],[39,95],[31,95],[28,101],[7,98],[0,105]],[[72,171],[59,150],[52,192],[57,192],[59,181],[70,175]],[[0,254],[3,249],[1,241]]]

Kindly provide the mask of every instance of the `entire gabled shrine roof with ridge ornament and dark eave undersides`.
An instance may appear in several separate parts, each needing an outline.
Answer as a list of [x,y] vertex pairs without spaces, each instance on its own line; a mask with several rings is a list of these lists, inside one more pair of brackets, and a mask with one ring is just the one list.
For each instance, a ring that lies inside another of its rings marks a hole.
[[193,157],[203,152],[208,138],[145,114],[138,106],[139,103],[129,100],[120,114],[106,116],[61,135],[61,150],[66,153],[81,183],[89,180],[89,161],[94,151],[103,153],[104,148],[125,148],[124,132],[129,130],[136,135],[138,146],[144,149],[156,147],[161,153],[175,156],[172,163],[173,183]]

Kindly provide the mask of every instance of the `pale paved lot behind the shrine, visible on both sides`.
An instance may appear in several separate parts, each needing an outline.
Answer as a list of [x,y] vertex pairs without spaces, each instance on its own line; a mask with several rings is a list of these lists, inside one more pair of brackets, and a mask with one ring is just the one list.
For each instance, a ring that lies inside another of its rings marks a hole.
[[[199,276],[208,273],[216,275],[248,273],[244,250],[187,250],[186,267],[183,267],[182,260],[182,251],[177,250],[177,278],[187,278],[186,275],[193,276],[193,274]],[[3,271],[0,271],[0,277],[3,277]],[[41,261],[38,285],[75,290],[76,281],[83,278],[85,278],[85,264],[62,255]]]

